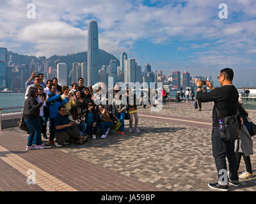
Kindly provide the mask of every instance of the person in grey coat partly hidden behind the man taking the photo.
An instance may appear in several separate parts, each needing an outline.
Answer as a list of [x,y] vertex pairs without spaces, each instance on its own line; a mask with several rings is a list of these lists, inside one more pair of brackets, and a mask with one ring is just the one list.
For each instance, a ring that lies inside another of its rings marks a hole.
[[235,142],[235,152],[237,159],[237,172],[239,172],[239,165],[241,157],[243,156],[244,163],[246,166],[246,171],[244,171],[239,178],[248,179],[253,177],[252,173],[252,163],[250,155],[253,154],[253,141],[250,136],[250,131],[252,129],[252,124],[248,121],[248,113],[244,110],[243,106],[239,103],[239,115],[241,117],[241,131],[240,138]]

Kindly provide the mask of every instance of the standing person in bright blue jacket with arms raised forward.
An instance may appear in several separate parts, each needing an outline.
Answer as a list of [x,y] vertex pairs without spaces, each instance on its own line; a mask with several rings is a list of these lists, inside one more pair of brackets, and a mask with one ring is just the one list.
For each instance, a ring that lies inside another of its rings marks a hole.
[[49,118],[50,118],[50,138],[49,143],[53,144],[54,140],[54,133],[53,133],[53,126],[54,126],[54,118],[58,115],[58,107],[61,105],[64,105],[69,101],[71,98],[71,94],[68,94],[67,98],[65,98],[63,101],[60,97],[60,92],[58,94],[55,94],[57,91],[56,85],[50,85],[50,92],[49,92],[49,99],[46,103],[46,105],[49,107]]

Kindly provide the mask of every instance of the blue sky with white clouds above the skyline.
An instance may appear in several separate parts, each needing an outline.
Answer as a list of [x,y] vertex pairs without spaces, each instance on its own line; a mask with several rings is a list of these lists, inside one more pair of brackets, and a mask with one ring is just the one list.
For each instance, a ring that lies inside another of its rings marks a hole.
[[[36,18],[27,18],[28,3]],[[220,19],[220,3],[228,18]],[[256,86],[256,2],[253,0],[1,0],[0,47],[46,57],[87,50],[88,22],[99,27],[99,47],[119,58],[122,52],[144,68],[166,75],[189,71],[216,78],[235,71],[237,87]],[[215,81],[217,84],[217,81]]]

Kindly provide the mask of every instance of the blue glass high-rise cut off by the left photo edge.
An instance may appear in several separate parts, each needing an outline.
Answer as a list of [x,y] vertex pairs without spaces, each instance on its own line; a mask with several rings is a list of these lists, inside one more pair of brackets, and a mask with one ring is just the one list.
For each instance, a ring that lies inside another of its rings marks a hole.
[[7,48],[0,47],[0,89],[6,87]]

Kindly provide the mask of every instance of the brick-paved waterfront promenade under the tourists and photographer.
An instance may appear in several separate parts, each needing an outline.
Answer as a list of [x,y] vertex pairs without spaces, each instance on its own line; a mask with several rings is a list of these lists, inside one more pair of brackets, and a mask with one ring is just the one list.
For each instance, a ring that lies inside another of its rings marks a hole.
[[[161,112],[140,106],[141,133],[129,133],[125,120],[125,136],[98,135],[97,140],[62,148],[46,144],[46,149],[26,151],[24,131],[3,129],[0,191],[214,191],[207,186],[217,179],[212,106],[203,103],[202,112],[194,103],[166,103]],[[248,112],[256,122],[256,111]],[[241,186],[230,186],[230,191],[256,191],[255,156],[251,159],[255,177],[240,179]],[[26,173],[31,169],[36,184],[29,185]],[[243,159],[240,171],[245,171]]]

